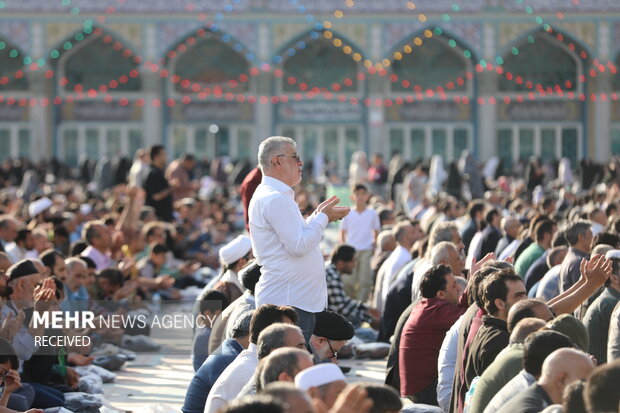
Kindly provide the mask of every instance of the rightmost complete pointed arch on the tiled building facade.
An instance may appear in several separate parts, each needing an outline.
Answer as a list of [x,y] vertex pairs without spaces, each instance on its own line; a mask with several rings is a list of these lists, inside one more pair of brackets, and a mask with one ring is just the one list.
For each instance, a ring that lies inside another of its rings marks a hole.
[[523,34],[502,53],[504,73],[499,76],[502,92],[529,92],[538,88],[564,91],[580,89],[579,75],[590,54],[572,36],[537,29]]

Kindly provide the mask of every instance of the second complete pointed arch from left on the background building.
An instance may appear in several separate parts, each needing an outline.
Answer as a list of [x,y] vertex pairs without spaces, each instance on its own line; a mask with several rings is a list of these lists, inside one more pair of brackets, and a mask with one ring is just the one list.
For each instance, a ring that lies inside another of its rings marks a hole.
[[205,88],[249,90],[252,57],[247,47],[226,32],[209,28],[193,30],[166,52],[174,89],[196,93]]

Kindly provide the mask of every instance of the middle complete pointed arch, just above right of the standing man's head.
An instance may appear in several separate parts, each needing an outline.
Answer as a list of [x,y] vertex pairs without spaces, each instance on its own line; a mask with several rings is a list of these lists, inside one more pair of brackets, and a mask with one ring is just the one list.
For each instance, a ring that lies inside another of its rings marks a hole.
[[282,47],[273,60],[281,63],[284,92],[298,92],[300,87],[339,92],[361,89],[357,73],[363,54],[355,43],[334,31],[302,33]]

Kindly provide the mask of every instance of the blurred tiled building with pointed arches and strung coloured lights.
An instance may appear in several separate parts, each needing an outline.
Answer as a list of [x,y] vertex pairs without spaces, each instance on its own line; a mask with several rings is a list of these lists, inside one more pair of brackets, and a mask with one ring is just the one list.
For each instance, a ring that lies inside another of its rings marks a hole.
[[620,153],[616,0],[2,0],[0,157]]

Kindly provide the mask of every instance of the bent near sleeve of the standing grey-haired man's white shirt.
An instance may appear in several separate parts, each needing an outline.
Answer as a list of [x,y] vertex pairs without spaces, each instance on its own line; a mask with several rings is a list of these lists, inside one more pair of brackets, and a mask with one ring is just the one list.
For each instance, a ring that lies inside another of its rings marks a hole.
[[274,197],[265,205],[265,219],[287,252],[298,257],[319,245],[328,224],[323,213],[312,214],[304,221],[295,202],[285,196]]

